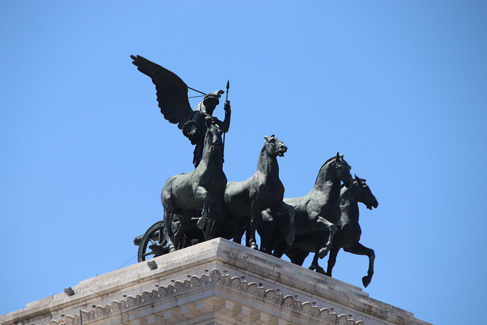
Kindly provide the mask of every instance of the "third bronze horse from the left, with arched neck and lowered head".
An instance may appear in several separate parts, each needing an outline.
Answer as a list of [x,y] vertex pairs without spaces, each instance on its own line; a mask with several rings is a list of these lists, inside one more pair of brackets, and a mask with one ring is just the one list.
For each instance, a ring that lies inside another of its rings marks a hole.
[[[337,231],[336,223],[340,220],[340,187],[341,182],[349,187],[353,178],[350,174],[350,165],[343,159],[343,155],[337,153],[325,161],[319,169],[315,186],[308,194],[286,198],[284,202],[293,206],[295,210],[295,231],[296,234],[309,235],[310,232],[316,232],[318,239],[314,242],[315,252],[313,263],[310,269],[316,269],[317,272],[325,274],[323,268],[318,265],[318,257],[323,258],[332,247],[333,237]],[[269,211],[262,213],[263,220],[273,220]],[[266,225],[262,227],[265,233]],[[281,257],[293,247],[284,245],[282,241],[274,249],[273,255]]]

